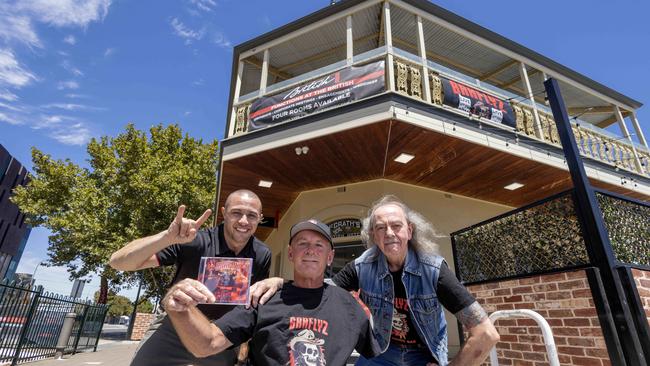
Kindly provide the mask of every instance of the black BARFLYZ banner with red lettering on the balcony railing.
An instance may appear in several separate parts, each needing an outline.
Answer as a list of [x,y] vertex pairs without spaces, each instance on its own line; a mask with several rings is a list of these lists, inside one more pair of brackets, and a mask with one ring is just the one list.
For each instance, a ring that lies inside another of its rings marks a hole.
[[515,113],[509,101],[454,80],[443,77],[440,80],[445,95],[444,104],[492,122],[516,127]]

